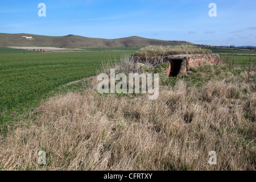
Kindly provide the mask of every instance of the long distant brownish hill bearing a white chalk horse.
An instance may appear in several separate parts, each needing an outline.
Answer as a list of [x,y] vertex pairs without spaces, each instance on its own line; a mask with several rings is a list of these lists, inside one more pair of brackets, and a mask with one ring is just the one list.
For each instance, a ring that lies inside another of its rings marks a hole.
[[[32,36],[34,40],[27,40],[22,36]],[[60,48],[87,48],[87,47],[144,47],[144,46],[177,46],[191,45],[185,41],[166,41],[146,39],[139,36],[130,36],[120,39],[86,38],[84,36],[43,36],[33,34],[2,34],[0,33],[0,47],[8,46],[41,46]]]

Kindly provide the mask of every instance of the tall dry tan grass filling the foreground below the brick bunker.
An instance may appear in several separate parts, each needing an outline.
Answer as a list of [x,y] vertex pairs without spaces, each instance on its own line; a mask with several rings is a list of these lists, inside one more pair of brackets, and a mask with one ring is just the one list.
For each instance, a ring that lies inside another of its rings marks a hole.
[[[242,78],[202,88],[180,80],[154,101],[93,89],[50,98],[0,141],[0,168],[255,170],[255,82]],[[37,163],[42,150],[46,166]],[[216,166],[209,151],[217,152]]]

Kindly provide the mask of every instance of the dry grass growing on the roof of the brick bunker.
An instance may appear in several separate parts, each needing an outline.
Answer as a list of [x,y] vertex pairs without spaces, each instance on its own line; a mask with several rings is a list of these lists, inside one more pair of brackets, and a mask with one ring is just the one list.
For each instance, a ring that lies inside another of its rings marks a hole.
[[209,49],[197,48],[195,46],[147,46],[139,49],[134,56],[152,57],[179,54],[208,54]]

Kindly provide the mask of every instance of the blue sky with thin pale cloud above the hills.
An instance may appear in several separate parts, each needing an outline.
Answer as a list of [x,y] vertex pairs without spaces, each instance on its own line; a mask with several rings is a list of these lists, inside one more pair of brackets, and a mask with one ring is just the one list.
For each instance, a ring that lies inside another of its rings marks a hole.
[[[46,4],[46,17],[38,4]],[[217,17],[210,17],[216,3]],[[255,0],[1,0],[0,32],[256,46]]]

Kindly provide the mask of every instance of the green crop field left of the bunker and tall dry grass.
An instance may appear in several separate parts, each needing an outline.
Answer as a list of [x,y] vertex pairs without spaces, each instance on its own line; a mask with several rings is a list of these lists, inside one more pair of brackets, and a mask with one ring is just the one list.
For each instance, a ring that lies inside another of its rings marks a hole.
[[[19,50],[19,49],[18,49]],[[102,62],[132,52],[6,53],[0,55],[0,122],[37,105],[67,82],[96,75]]]

